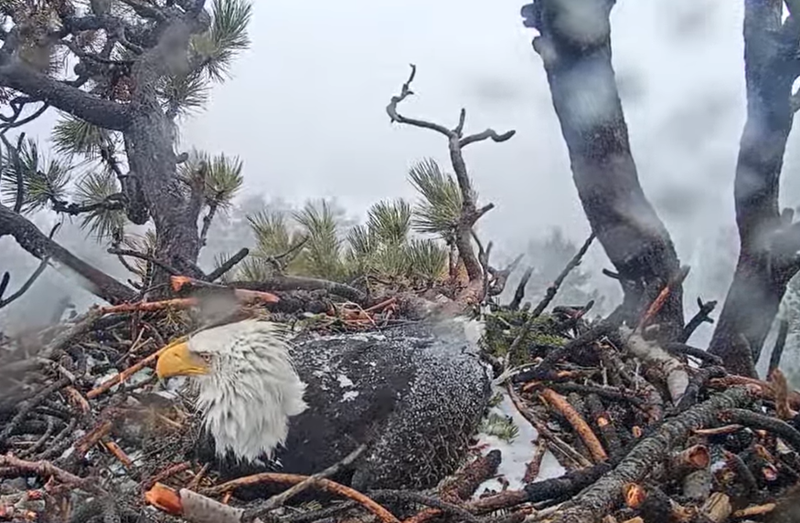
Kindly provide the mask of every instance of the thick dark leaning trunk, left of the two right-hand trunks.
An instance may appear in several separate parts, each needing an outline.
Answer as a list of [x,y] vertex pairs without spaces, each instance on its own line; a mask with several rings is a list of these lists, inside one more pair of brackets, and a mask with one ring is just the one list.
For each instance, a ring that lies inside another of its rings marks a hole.
[[[541,33],[542,57],[573,179],[592,230],[624,285],[629,310],[645,288],[660,290],[679,270],[664,224],[639,183],[611,64],[612,0],[536,0],[522,9],[525,25]],[[658,292],[658,291],[656,291]],[[667,337],[683,328],[682,290],[656,318]],[[633,318],[628,318],[629,320]]]

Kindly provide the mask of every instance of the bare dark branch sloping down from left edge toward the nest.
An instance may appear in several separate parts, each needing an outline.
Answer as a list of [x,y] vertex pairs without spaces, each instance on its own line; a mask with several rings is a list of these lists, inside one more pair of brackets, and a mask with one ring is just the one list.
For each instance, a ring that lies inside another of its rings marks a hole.
[[136,293],[48,238],[22,215],[0,204],[0,237],[13,236],[17,243],[40,260],[49,259],[57,268],[64,267],[80,278],[81,285],[112,304],[133,301]]

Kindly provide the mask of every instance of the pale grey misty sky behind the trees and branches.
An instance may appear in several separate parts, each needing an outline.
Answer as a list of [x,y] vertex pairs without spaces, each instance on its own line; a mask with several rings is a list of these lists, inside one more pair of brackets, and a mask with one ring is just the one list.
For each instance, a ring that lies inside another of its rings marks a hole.
[[[392,125],[385,113],[415,63],[417,94],[400,106],[402,114],[453,126],[466,107],[468,133],[517,130],[508,142],[465,152],[479,202],[497,206],[478,224],[484,243],[495,243],[493,265],[526,253],[523,265],[558,266],[545,241],[553,228],[577,249],[589,227],[544,69],[531,48],[534,32],[522,26],[523,3],[254,2],[250,50],[235,63],[233,78],[181,127],[181,150],[224,152],[245,166],[238,208],[217,219],[201,264],[252,246],[243,217],[267,202],[292,207],[333,198],[359,221],[378,200],[416,199],[408,168],[424,157],[443,167],[449,159],[443,136]],[[742,16],[742,3],[726,0],[622,0],[612,12],[614,66],[640,180],[682,263],[692,267],[687,319],[697,296],[721,307],[738,250],[733,179],[746,109]],[[51,111],[24,130],[46,145],[56,116]],[[796,142],[795,134],[782,177],[782,204],[790,207],[800,202]],[[41,213],[34,221],[47,232],[55,220]],[[106,246],[66,220],[57,241],[128,278]],[[0,271],[11,272],[12,291],[38,263],[13,239],[0,239]],[[606,296],[610,308],[621,293],[600,274],[604,267],[611,268],[595,243],[581,267],[582,288]],[[512,293],[521,272],[509,284]],[[48,269],[3,311],[5,328],[48,322],[65,296],[78,311],[96,301]],[[701,327],[693,343],[705,346],[712,329]]]

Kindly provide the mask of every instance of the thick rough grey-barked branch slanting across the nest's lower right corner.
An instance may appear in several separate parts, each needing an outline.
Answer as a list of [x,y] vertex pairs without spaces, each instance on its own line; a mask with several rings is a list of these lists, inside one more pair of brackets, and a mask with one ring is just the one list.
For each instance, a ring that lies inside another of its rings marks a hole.
[[665,421],[652,435],[637,443],[613,471],[573,498],[569,507],[555,515],[552,523],[594,523],[599,520],[621,501],[626,483],[641,482],[650,473],[653,463],[664,460],[669,451],[681,444],[694,429],[718,423],[720,410],[746,407],[752,401],[751,392],[744,387],[735,387]]

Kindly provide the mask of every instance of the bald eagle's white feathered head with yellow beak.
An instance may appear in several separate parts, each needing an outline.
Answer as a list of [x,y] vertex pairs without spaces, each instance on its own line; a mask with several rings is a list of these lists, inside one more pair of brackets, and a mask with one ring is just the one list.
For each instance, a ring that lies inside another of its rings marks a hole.
[[286,441],[289,418],[308,407],[286,329],[245,320],[201,331],[158,358],[159,378],[189,376],[219,456],[254,462]]

